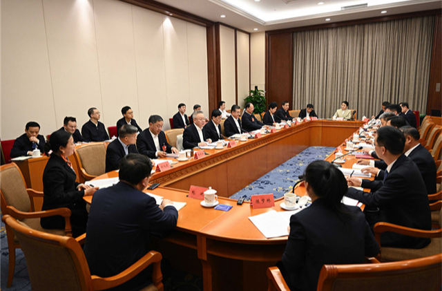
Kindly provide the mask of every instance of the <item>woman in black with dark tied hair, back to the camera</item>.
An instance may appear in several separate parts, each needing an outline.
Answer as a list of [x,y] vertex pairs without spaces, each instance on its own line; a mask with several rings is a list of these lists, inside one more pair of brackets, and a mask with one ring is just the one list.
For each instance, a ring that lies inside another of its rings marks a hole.
[[343,173],[324,160],[305,169],[312,203],[291,216],[280,270],[290,290],[316,290],[325,264],[364,263],[379,246],[361,209],[340,202],[347,192]]

